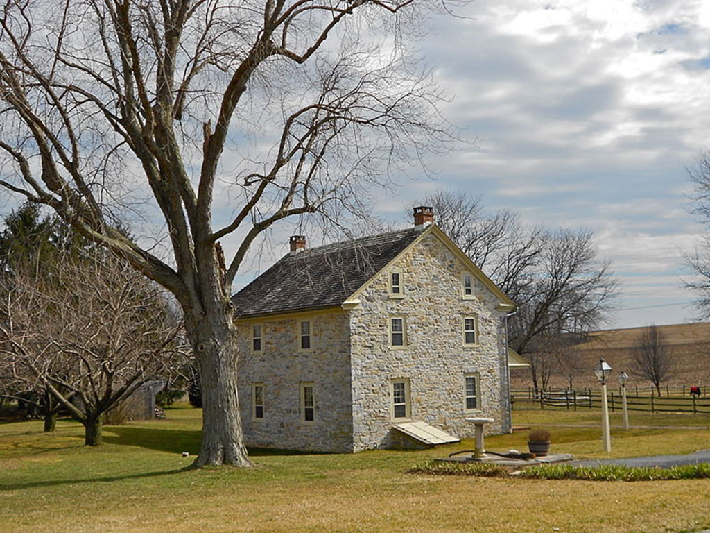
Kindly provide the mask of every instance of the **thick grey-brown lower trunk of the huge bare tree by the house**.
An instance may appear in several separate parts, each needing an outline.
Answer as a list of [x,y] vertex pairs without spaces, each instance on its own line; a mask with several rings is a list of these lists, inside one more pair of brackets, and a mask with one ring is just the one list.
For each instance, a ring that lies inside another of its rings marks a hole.
[[[195,359],[202,387],[202,446],[194,465],[251,466],[237,395],[236,330],[231,310],[197,324]],[[222,322],[222,323],[220,323]]]

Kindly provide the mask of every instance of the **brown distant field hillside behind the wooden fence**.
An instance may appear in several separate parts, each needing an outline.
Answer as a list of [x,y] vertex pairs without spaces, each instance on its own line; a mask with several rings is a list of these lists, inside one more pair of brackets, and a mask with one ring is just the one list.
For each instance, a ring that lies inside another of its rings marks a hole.
[[[672,324],[657,326],[666,335],[670,354],[674,361],[671,386],[708,384],[710,385],[710,323]],[[648,387],[645,379],[636,376],[633,370],[633,350],[638,345],[641,328],[599,330],[590,333],[591,339],[577,347],[579,370],[574,377],[574,387],[596,387],[594,365],[599,359],[611,365],[613,376],[622,370],[631,379],[629,386]],[[510,372],[513,387],[532,385],[530,370],[520,369]],[[616,384],[616,379],[613,379]],[[567,377],[552,375],[551,387],[566,387]]]

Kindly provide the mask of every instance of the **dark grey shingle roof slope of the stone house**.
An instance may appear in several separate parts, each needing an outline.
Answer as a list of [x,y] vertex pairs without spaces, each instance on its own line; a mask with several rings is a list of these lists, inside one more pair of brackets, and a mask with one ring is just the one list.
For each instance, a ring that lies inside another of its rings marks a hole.
[[286,255],[232,296],[234,315],[339,306],[420,235],[410,228]]

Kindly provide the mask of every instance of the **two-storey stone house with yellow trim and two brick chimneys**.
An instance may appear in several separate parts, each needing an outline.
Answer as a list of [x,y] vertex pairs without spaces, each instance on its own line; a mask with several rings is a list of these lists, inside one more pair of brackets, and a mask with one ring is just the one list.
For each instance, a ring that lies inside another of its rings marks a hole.
[[355,452],[412,443],[406,422],[510,431],[515,309],[415,209],[407,230],[291,252],[234,298],[247,446]]

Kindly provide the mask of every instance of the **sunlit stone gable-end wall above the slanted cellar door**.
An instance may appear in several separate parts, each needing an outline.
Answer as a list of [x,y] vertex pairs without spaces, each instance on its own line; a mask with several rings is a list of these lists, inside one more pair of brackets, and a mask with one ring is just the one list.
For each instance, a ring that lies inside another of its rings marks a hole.
[[[391,381],[408,378],[411,419],[459,437],[474,435],[468,417],[495,420],[489,433],[510,430],[505,313],[475,279],[474,298],[461,296],[461,262],[435,235],[426,235],[393,265],[403,298],[389,295],[389,271],[359,295],[351,311],[354,450],[387,443],[393,425]],[[393,348],[389,318],[405,317],[407,345]],[[477,316],[479,343],[464,346],[462,320]],[[480,375],[480,409],[466,409],[464,374]]]

